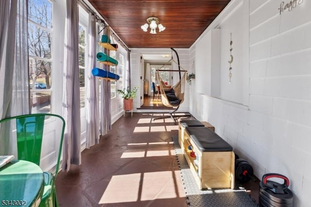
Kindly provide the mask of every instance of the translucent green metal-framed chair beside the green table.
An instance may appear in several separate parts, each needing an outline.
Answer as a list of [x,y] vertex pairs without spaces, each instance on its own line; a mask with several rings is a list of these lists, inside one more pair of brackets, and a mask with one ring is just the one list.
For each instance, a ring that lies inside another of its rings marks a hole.
[[[44,131],[44,126],[46,125],[45,122],[49,122],[49,128],[52,126],[53,136],[51,135],[51,132],[47,133]],[[52,166],[49,167],[52,167],[53,169],[55,168],[55,171],[53,170],[52,173],[44,172],[44,192],[39,206],[58,206],[55,191],[55,177],[59,171],[59,162],[62,152],[65,131],[64,119],[56,114],[28,114],[0,120],[0,127],[10,129],[6,130],[6,133],[15,133],[16,131],[17,159],[27,160],[40,166],[42,153],[48,154],[45,156],[49,156],[49,159],[55,158],[53,159],[54,163],[49,163],[52,164]],[[15,127],[16,130],[14,130]],[[55,137],[55,140],[44,138],[51,136]],[[10,137],[12,137],[12,135],[10,135]],[[48,143],[42,145],[45,141],[48,141]],[[59,143],[59,146],[57,146],[56,143]],[[43,149],[43,146],[49,149]],[[51,150],[53,148],[51,146],[54,146],[54,151]],[[44,152],[44,150],[46,152]],[[47,168],[47,166],[44,167]]]

